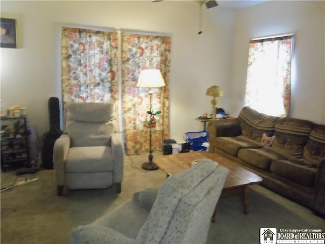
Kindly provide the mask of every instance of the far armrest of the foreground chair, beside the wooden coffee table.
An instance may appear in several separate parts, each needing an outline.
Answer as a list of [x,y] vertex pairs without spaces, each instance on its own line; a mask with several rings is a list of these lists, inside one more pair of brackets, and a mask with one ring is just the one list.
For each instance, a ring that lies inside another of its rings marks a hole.
[[150,211],[153,203],[156,201],[159,188],[149,187],[141,192],[133,194],[133,201],[136,202],[142,208]]

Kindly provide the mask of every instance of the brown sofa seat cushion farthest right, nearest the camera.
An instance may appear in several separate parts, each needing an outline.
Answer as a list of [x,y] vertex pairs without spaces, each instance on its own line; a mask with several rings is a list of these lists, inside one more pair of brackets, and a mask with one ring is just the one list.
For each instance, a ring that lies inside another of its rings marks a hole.
[[275,160],[270,170],[307,187],[313,187],[317,168],[305,159]]

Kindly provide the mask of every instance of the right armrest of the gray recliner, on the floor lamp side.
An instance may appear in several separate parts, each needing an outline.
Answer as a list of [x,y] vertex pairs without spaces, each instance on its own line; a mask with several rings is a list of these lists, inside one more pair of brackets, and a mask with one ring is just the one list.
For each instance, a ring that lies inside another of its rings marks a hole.
[[114,133],[111,136],[111,147],[113,157],[113,182],[121,183],[123,180],[124,167],[124,147],[121,133]]

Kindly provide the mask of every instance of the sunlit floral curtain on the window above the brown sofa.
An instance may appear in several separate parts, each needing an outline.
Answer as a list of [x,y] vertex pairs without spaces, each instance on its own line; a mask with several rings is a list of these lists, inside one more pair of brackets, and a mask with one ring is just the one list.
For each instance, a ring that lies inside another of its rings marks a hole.
[[293,36],[249,42],[245,105],[273,116],[288,116],[291,101]]

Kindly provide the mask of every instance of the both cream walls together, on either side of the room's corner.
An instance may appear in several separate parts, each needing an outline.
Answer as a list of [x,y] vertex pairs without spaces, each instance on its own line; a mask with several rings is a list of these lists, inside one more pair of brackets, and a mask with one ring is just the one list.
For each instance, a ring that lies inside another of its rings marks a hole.
[[1,17],[17,19],[18,35],[17,49],[0,48],[2,105],[27,107],[39,138],[49,129],[48,98],[61,99],[61,26],[170,35],[170,138],[176,140],[203,129],[194,118],[211,111],[205,96],[211,85],[224,89],[217,106],[237,116],[250,39],[295,33],[292,115],[325,123],[324,1],[271,1],[236,12],[203,6],[201,35],[196,1],[1,1]]

